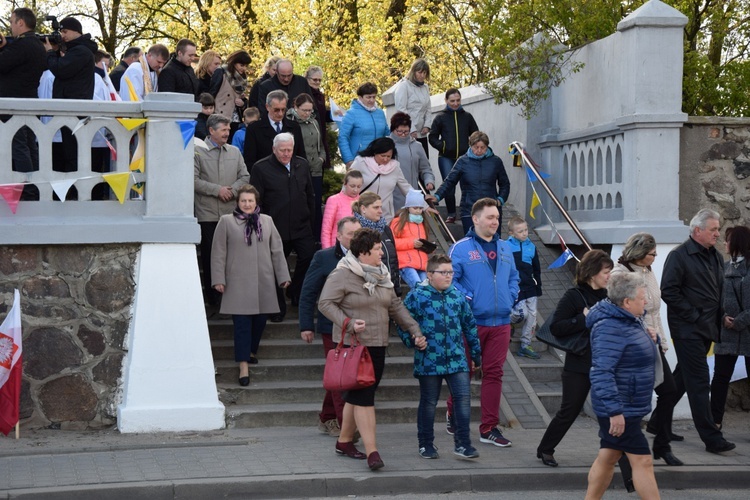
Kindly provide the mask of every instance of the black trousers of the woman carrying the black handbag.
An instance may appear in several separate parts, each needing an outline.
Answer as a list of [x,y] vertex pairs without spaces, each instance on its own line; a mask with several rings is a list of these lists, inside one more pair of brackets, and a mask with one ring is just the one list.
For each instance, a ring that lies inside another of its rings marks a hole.
[[542,441],[537,446],[537,451],[555,453],[555,447],[560,444],[562,438],[573,425],[586,402],[586,396],[591,389],[591,381],[588,373],[576,373],[563,370],[563,396],[560,409],[549,423],[547,431],[542,436]]

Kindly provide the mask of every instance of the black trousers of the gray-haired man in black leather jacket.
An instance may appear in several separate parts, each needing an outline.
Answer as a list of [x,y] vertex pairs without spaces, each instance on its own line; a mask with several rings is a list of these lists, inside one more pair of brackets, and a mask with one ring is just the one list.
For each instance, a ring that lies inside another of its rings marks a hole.
[[708,339],[675,339],[674,350],[677,354],[677,367],[674,379],[677,385],[677,401],[685,394],[687,387],[690,412],[693,423],[706,446],[716,446],[724,440],[721,431],[716,428],[711,415],[710,376],[706,354],[711,348]]

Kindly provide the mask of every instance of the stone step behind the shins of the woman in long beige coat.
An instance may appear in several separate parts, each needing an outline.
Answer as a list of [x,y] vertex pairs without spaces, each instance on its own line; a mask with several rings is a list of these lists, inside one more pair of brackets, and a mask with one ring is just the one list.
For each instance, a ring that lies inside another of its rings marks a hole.
[[[305,343],[299,337],[296,339],[267,339],[265,332],[258,348],[259,359],[310,359],[323,358],[323,341],[320,336],[312,344]],[[211,351],[214,360],[234,360],[233,340],[211,340]],[[412,356],[414,351],[407,348],[401,338],[390,338],[388,353],[391,356]]]

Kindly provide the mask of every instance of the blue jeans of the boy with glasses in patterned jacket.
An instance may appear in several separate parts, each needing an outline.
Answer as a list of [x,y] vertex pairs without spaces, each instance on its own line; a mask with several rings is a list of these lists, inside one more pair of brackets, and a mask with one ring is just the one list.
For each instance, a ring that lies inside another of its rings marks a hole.
[[417,411],[417,439],[419,446],[433,444],[435,440],[435,407],[440,398],[443,379],[453,396],[453,419],[456,446],[471,446],[469,420],[471,418],[471,389],[469,372],[449,375],[422,375],[419,379],[419,410]]

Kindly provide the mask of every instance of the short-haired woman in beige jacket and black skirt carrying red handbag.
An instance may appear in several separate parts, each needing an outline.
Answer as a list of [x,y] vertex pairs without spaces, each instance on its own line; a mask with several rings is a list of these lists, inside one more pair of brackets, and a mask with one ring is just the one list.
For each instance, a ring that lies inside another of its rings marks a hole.
[[[418,349],[426,345],[419,325],[393,290],[388,268],[381,261],[381,247],[377,231],[363,228],[354,233],[349,252],[328,276],[318,303],[320,312],[333,321],[333,341],[341,340],[342,325],[349,318],[346,333],[355,334],[372,358],[375,384],[343,394],[344,418],[336,442],[336,453],[366,458],[371,470],[383,467],[375,438],[375,391],[385,367],[389,320],[408,331]],[[355,430],[362,435],[366,454],[352,443]]]

